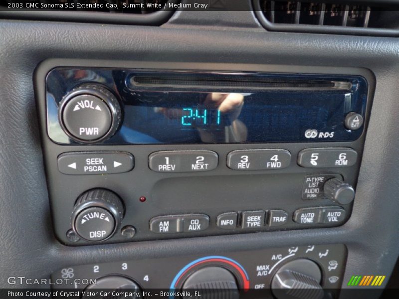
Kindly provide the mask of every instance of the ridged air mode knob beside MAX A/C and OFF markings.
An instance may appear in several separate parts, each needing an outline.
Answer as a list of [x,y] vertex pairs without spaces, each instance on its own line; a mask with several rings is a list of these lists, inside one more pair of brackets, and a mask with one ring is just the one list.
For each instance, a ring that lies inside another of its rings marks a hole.
[[282,266],[274,275],[271,288],[278,299],[321,299],[319,266],[308,259],[298,259]]

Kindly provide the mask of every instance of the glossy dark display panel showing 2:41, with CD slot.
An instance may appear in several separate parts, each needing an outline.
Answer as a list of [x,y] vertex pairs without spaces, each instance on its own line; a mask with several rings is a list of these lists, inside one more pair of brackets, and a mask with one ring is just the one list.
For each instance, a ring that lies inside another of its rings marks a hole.
[[361,76],[124,69],[57,68],[47,83],[60,144],[354,141],[368,92]]

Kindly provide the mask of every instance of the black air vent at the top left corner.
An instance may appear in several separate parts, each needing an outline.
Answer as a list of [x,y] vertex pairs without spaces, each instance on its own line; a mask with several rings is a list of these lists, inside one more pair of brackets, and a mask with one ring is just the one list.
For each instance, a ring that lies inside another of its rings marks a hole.
[[[11,0],[0,18],[160,25],[180,0]],[[169,5],[171,4],[171,5]]]

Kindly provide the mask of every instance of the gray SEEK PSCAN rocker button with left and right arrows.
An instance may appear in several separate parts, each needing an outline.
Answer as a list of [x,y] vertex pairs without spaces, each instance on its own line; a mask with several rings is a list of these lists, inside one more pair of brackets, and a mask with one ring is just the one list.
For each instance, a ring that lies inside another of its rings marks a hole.
[[132,170],[134,157],[124,151],[75,151],[60,154],[57,163],[65,174],[110,174]]

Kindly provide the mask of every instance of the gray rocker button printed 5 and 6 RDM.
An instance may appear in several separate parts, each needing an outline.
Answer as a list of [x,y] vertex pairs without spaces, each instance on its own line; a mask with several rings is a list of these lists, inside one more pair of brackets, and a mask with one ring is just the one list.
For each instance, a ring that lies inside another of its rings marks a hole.
[[358,153],[350,148],[303,149],[298,154],[302,167],[347,167],[356,163]]

